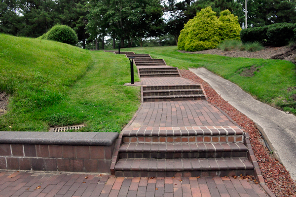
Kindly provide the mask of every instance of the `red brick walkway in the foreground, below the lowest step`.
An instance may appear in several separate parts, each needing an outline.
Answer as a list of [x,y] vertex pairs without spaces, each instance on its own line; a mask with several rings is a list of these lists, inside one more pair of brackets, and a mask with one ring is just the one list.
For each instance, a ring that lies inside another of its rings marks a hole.
[[0,197],[10,196],[267,197],[259,185],[232,177],[124,178],[109,175],[0,171]]

